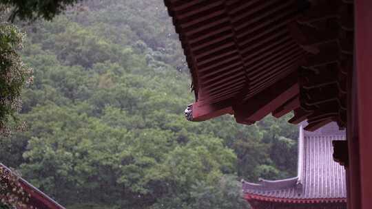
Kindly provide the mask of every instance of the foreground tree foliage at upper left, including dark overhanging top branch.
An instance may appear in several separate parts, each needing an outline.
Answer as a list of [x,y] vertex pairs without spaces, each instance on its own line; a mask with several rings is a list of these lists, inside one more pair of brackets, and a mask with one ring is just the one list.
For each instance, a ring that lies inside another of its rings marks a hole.
[[[41,17],[51,20],[79,0],[0,0],[0,134],[10,135],[19,125],[16,113],[21,110],[21,90],[32,82],[32,69],[25,67],[19,50],[23,47],[25,34],[12,23],[16,17],[22,21]],[[7,20],[8,19],[8,20]],[[9,120],[15,122],[8,126]]]

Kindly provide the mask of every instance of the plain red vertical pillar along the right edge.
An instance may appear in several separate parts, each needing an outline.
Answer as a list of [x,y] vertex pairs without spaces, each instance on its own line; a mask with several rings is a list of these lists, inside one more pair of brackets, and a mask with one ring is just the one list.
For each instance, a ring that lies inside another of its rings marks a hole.
[[[369,209],[372,208],[372,1],[355,0],[354,14],[360,151],[360,208]],[[353,183],[351,181],[351,184]]]

